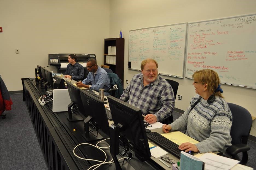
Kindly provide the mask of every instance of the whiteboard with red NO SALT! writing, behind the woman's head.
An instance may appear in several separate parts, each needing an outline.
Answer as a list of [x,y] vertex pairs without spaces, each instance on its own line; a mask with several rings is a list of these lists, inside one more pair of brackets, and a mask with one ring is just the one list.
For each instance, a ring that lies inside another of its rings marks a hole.
[[213,69],[222,83],[256,88],[256,15],[188,23],[185,77]]

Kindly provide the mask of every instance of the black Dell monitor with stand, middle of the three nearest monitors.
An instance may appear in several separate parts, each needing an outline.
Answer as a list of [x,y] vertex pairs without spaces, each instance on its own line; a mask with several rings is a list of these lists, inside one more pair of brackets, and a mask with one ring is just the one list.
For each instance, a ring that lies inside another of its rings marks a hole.
[[80,90],[80,95],[81,95],[84,109],[88,114],[87,118],[84,120],[85,140],[92,141],[92,140],[99,140],[103,138],[100,134],[98,134],[97,131],[94,131],[94,132],[90,131],[90,133],[94,133],[94,134],[92,135],[89,134],[89,122],[92,122],[92,124],[96,128],[99,128],[101,131],[103,131],[106,135],[109,136],[110,135],[109,123],[107,119],[104,101],[86,92],[85,90]]

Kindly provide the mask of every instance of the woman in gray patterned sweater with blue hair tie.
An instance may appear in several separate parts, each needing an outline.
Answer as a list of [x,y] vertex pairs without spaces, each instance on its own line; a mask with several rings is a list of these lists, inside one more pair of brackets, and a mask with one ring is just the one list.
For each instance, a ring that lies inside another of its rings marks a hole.
[[191,99],[188,109],[169,125],[163,125],[164,133],[186,130],[188,136],[199,143],[182,143],[179,149],[185,152],[200,153],[221,151],[231,146],[230,128],[232,115],[223,99],[218,74],[210,69],[196,71],[193,85],[198,95]]

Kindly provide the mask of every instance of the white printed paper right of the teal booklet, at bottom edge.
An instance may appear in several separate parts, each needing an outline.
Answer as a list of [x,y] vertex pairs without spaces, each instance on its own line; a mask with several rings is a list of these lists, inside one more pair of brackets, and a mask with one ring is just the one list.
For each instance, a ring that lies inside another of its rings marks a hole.
[[214,169],[214,170],[228,170],[235,166],[239,161],[219,156],[213,153],[206,153],[200,157],[205,163],[205,169]]

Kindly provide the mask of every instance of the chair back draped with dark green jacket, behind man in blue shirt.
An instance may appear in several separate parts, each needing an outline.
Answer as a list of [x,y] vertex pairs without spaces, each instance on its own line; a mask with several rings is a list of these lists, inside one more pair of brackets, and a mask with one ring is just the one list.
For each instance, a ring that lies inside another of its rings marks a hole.
[[107,75],[109,76],[110,86],[112,87],[107,92],[109,92],[111,96],[119,99],[124,91],[122,80],[115,73],[107,73]]

